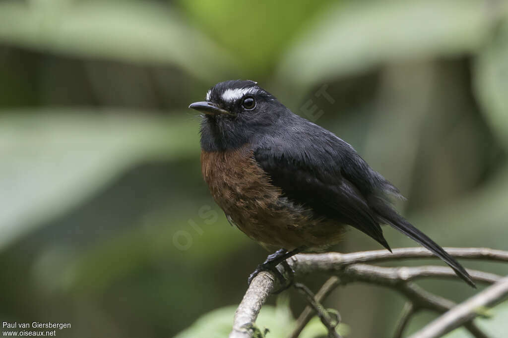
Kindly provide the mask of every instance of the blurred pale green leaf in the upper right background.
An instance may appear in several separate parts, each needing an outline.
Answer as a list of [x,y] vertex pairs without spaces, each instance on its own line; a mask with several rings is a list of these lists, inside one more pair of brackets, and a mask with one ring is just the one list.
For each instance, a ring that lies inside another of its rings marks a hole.
[[494,9],[483,0],[333,5],[285,53],[278,77],[306,86],[384,62],[476,51],[494,18],[506,12],[505,3],[499,4]]

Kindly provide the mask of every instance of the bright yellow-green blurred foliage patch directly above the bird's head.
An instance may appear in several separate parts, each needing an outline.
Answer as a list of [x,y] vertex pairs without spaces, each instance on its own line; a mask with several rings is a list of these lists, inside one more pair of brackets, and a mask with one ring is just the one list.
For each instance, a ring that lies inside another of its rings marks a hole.
[[[187,15],[208,35],[241,60],[251,76],[267,76],[293,38],[330,0],[314,2],[179,1]],[[282,15],[281,15],[282,14]]]

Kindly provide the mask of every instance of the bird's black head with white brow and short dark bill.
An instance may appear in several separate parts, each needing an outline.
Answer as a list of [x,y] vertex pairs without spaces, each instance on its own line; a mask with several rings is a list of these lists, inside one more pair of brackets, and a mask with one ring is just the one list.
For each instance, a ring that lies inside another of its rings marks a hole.
[[[201,145],[205,150],[230,150],[272,131],[289,110],[254,81],[217,83],[206,101],[189,106],[203,113]],[[290,113],[291,114],[291,113]]]

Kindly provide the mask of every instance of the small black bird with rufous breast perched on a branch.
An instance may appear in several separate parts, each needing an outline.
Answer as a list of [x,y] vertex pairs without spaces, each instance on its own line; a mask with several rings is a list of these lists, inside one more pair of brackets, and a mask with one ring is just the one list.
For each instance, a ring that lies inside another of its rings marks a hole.
[[464,267],[393,207],[399,190],[348,143],[294,114],[251,80],[219,82],[201,113],[204,181],[228,221],[270,251],[249,276],[297,253],[325,252],[354,227],[392,251],[390,225],[446,262],[475,287]]

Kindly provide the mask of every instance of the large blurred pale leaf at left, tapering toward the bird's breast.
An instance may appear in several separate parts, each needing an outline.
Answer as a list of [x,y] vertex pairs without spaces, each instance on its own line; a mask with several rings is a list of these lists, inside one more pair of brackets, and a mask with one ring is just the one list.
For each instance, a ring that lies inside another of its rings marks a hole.
[[33,113],[0,115],[0,249],[140,161],[199,156],[198,123],[187,116]]

